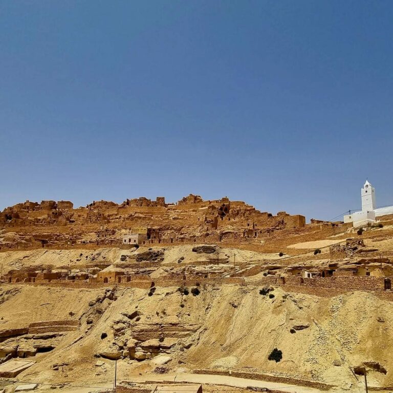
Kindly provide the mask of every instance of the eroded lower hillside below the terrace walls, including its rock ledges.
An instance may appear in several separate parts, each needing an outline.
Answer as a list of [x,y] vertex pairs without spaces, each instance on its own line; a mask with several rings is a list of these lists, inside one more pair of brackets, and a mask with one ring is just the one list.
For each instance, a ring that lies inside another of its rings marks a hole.
[[[105,382],[119,359],[119,378],[130,379],[154,372],[159,359],[162,373],[232,370],[339,386],[355,383],[351,368],[365,365],[370,385],[393,382],[393,304],[371,293],[318,298],[251,285],[8,291],[0,293],[2,355],[37,360],[19,378]],[[20,327],[27,331],[12,332]],[[274,348],[278,362],[268,360]]]

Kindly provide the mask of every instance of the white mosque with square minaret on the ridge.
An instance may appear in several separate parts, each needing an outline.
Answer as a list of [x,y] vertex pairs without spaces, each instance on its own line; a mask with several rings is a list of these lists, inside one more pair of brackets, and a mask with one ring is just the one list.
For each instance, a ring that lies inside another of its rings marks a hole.
[[354,227],[375,223],[376,217],[385,214],[393,214],[393,206],[376,208],[375,188],[368,180],[364,183],[361,190],[362,210],[352,214],[344,215],[344,223],[354,223]]

